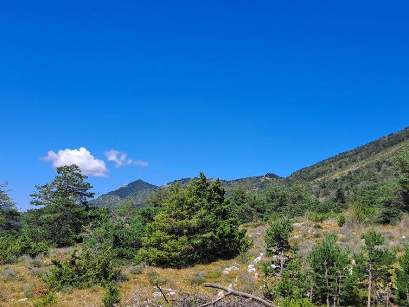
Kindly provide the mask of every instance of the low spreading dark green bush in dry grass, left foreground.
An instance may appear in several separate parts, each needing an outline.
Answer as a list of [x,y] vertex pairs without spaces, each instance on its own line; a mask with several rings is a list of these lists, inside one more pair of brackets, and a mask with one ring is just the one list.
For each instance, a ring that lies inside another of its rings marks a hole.
[[50,289],[103,285],[118,279],[119,271],[112,266],[110,248],[93,253],[85,250],[79,257],[75,254],[76,250],[63,261],[53,260],[54,268],[46,278]]

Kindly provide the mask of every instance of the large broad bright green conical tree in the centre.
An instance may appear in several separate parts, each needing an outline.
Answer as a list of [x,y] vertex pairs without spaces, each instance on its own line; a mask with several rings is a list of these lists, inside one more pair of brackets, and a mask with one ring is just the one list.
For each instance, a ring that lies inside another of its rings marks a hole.
[[173,186],[163,211],[145,228],[137,260],[162,267],[228,259],[249,247],[220,181],[203,174],[186,189]]

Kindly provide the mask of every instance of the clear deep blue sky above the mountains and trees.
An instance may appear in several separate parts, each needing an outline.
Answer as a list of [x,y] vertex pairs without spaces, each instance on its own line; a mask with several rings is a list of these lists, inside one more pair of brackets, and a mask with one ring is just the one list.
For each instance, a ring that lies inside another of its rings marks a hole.
[[[81,147],[77,158],[100,171],[89,177],[98,193],[200,171],[287,176],[401,130],[408,9],[406,1],[4,1],[0,181],[27,209],[34,185]],[[109,150],[127,157],[108,161]]]

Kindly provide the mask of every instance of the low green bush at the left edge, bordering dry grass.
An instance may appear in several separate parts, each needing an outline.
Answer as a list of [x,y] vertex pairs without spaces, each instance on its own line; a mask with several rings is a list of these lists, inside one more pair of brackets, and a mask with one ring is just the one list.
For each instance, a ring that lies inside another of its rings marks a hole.
[[35,257],[48,254],[50,245],[47,242],[34,242],[26,235],[17,238],[8,235],[0,237],[0,264],[15,262],[22,255]]

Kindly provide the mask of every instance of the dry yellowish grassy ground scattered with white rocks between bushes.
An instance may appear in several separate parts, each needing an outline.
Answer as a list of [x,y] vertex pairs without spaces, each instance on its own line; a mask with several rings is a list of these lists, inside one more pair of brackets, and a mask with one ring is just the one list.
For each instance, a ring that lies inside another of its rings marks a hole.
[[[350,248],[352,252],[358,252],[363,244],[360,235],[369,229],[369,227],[353,222],[347,222],[344,227],[339,227],[336,219],[314,223],[304,218],[300,219],[298,223],[294,227],[291,240],[299,246],[302,258],[308,255],[312,247],[322,239],[325,232],[337,233],[341,245]],[[134,295],[127,305],[130,306],[132,303],[138,300],[143,301],[146,298],[164,305],[162,297],[155,298],[153,296],[153,293],[157,291],[154,288],[156,283],[160,284],[165,294],[174,290],[175,294],[167,295],[169,300],[183,296],[186,292],[217,294],[218,291],[215,289],[202,287],[203,282],[220,283],[223,286],[231,285],[239,291],[262,295],[261,264],[256,264],[259,276],[248,273],[248,265],[260,253],[265,252],[264,235],[267,226],[262,223],[250,223],[244,227],[254,245],[249,252],[232,260],[220,260],[212,264],[199,264],[184,269],[123,267],[122,272],[127,280],[120,282],[119,287],[123,296],[119,305],[125,304],[135,292],[138,295]],[[409,216],[405,216],[402,222],[396,226],[378,226],[377,230],[387,238],[385,247],[395,247],[400,250],[404,244],[409,243]],[[47,292],[42,282],[42,276],[50,269],[51,258],[61,259],[70,251],[70,248],[55,249],[46,259],[25,257],[17,264],[0,266],[0,306],[33,306],[33,303]],[[263,261],[268,261],[268,258],[263,257]],[[234,267],[239,270],[234,270]],[[229,274],[223,273],[226,268],[232,268]],[[62,307],[101,306],[103,293],[104,290],[101,287],[75,290],[67,288],[55,293],[54,296],[57,299],[56,305]],[[27,300],[19,301],[22,299]]]

